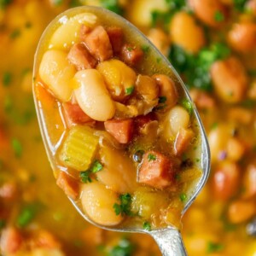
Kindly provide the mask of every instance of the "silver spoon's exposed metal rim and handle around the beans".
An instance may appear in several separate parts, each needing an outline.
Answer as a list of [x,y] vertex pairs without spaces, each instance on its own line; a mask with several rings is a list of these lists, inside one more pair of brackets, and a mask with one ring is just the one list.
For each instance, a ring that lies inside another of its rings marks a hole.
[[[97,8],[92,6],[83,6],[83,7],[78,7],[74,9],[69,9],[64,13],[62,13],[61,15],[58,15],[55,18],[55,20],[53,20],[49,24],[49,26],[44,31],[42,38],[39,41],[38,49],[35,55],[34,68],[33,68],[33,77],[35,78],[33,82],[33,96],[34,96],[34,101],[35,101],[36,110],[38,114],[40,131],[44,140],[44,146],[46,148],[46,153],[48,155],[49,162],[54,172],[55,170],[57,170],[57,168],[60,168],[60,166],[55,166],[54,154],[56,152],[56,149],[60,146],[61,137],[63,137],[63,133],[61,133],[60,127],[55,127],[54,123],[51,122],[52,119],[49,118],[50,110],[46,109],[46,106],[38,100],[38,96],[35,90],[35,87],[36,87],[35,81],[38,75],[38,67],[42,59],[42,56],[44,54],[45,45],[47,45],[47,42],[49,41],[49,36],[55,31],[56,27],[67,22],[67,20],[70,17],[73,17],[74,15],[78,15],[78,14],[83,14],[83,13],[91,13],[98,17],[101,17],[103,24],[121,27],[124,31],[124,34],[130,36],[125,39],[129,42],[132,42],[135,45],[148,45],[150,50],[148,52],[147,58],[149,60],[158,60],[158,61],[155,63],[150,62],[150,65],[145,66],[143,67],[142,70],[138,70],[138,71],[139,72],[143,71],[143,73],[148,73],[149,75],[152,75],[154,73],[164,73],[168,75],[175,82],[179,95],[183,95],[184,97],[186,97],[187,100],[190,102],[190,104],[193,106],[192,116],[195,119],[196,125],[198,126],[199,137],[201,140],[198,147],[198,156],[200,158],[200,161],[197,163],[197,165],[202,170],[202,175],[198,180],[198,182],[193,187],[189,200],[186,202],[186,204],[183,207],[183,211],[182,211],[182,216],[183,216],[184,212],[188,210],[192,202],[195,201],[196,196],[200,193],[201,189],[203,188],[204,184],[207,181],[207,177],[210,172],[210,151],[207,143],[206,133],[201,123],[199,113],[196,111],[195,105],[191,101],[189,92],[186,89],[185,85],[183,84],[183,81],[179,78],[177,72],[172,67],[170,62],[166,59],[166,57],[160,54],[160,51],[156,49],[153,44],[150,43],[148,38],[146,38],[142,32],[139,32],[138,29],[135,26],[133,26],[129,21],[125,20],[119,15],[114,14],[111,11],[108,11],[107,9],[102,9],[102,8]],[[58,131],[58,129],[60,130],[59,140],[55,140],[51,136],[51,132],[53,132],[54,130]],[[77,209],[77,211],[83,216],[85,220],[90,222],[90,224],[94,224],[105,230],[147,233],[148,235],[152,236],[154,240],[157,242],[158,246],[160,247],[160,251],[164,256],[187,255],[185,247],[183,245],[183,240],[182,240],[180,231],[177,230],[177,228],[174,226],[168,226],[167,228],[164,228],[164,229],[150,230],[150,231],[143,230],[141,228],[125,228],[125,229],[119,228],[119,227],[109,228],[109,227],[94,223],[86,215],[86,213],[84,213],[84,211],[81,209],[79,204],[73,201],[73,199],[71,198],[69,199],[70,201],[72,201],[73,206]]]

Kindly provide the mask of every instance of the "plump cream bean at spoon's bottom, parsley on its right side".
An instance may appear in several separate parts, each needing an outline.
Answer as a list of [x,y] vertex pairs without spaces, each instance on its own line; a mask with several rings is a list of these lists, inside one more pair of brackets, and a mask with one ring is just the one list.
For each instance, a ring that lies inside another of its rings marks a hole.
[[82,189],[81,202],[84,212],[96,224],[113,226],[123,219],[121,215],[116,215],[113,209],[113,205],[119,203],[118,195],[102,183],[85,184]]

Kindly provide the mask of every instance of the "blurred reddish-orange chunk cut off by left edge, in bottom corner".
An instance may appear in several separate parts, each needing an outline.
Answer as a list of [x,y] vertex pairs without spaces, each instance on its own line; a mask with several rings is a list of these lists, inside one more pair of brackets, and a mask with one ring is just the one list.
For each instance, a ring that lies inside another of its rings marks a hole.
[[23,238],[20,231],[14,227],[7,227],[3,230],[1,240],[0,240],[0,252],[3,255],[9,255],[11,253],[16,253],[21,245]]

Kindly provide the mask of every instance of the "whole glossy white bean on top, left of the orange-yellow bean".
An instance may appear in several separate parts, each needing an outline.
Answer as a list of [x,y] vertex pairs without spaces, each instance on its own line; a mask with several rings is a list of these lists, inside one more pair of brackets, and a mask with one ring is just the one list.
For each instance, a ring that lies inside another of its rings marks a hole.
[[101,73],[85,69],[74,76],[74,94],[84,113],[91,119],[106,121],[113,118],[114,102],[111,99]]

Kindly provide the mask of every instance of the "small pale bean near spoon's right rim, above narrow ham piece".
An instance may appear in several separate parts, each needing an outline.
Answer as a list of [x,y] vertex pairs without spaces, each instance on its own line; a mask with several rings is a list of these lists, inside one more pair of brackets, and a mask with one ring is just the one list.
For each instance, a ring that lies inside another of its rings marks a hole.
[[168,120],[171,131],[176,136],[179,129],[189,126],[189,113],[185,108],[176,106],[170,110]]

